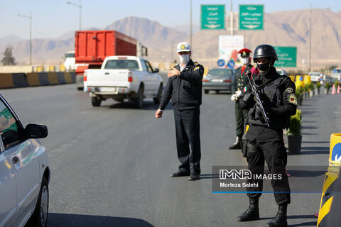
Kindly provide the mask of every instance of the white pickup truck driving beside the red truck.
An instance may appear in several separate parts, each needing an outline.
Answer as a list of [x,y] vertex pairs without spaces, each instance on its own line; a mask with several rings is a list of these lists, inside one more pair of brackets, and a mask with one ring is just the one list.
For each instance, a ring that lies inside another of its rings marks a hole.
[[143,106],[144,98],[161,101],[163,81],[151,64],[141,57],[109,56],[100,70],[85,70],[85,92],[90,92],[92,106],[100,106],[106,99],[134,102]]

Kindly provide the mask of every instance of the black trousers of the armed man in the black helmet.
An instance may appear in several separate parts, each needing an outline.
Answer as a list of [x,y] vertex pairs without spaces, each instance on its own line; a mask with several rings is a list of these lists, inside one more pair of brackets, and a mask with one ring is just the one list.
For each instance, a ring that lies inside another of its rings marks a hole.
[[[286,175],[287,154],[283,140],[263,143],[247,143],[247,163],[252,175],[264,175],[264,160],[269,167],[270,174],[274,177],[281,175],[281,179],[271,179],[274,189],[276,204],[290,204],[290,187]],[[252,177],[254,178],[254,177]],[[247,196],[258,198],[263,191],[263,179],[248,179],[248,183],[258,183],[258,187],[247,188]]]

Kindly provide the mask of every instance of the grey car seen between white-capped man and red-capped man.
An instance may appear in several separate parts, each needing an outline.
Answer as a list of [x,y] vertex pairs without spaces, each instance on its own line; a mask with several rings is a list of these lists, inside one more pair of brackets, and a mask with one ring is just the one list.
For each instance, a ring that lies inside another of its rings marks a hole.
[[212,69],[202,79],[202,87],[204,93],[208,94],[210,90],[219,93],[220,91],[227,91],[231,93],[231,84],[234,77],[234,70],[227,68]]

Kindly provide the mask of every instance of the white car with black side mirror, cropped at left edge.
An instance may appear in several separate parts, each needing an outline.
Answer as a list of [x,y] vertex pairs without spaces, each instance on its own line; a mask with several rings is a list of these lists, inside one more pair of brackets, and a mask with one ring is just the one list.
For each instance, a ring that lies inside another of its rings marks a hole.
[[0,226],[26,223],[45,227],[48,221],[48,155],[38,138],[46,126],[26,128],[0,94]]

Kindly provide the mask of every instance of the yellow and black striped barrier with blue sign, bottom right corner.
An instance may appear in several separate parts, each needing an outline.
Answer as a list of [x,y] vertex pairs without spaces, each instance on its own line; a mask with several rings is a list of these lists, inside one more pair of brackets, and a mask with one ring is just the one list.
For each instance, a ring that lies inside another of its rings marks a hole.
[[326,226],[328,214],[334,199],[333,184],[340,176],[341,169],[341,133],[330,135],[330,155],[328,172],[325,173],[323,182],[323,192],[320,201],[320,211],[318,212],[318,227]]

